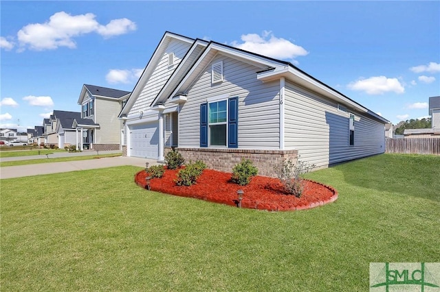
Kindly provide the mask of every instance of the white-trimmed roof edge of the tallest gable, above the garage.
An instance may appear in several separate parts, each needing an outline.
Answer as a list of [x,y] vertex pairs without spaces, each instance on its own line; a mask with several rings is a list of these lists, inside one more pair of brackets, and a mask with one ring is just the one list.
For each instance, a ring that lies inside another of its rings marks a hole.
[[164,51],[166,50],[166,47],[168,43],[173,40],[178,39],[182,40],[184,42],[188,42],[192,44],[195,42],[193,38],[188,38],[187,36],[181,36],[180,34],[174,34],[172,32],[165,32],[164,36],[162,36],[162,39],[160,40],[159,44],[157,45],[155,51],[153,52],[153,56],[151,56],[150,60],[148,60],[148,63],[145,66],[144,71],[142,72],[142,75],[140,76],[139,80],[137,80],[137,83],[135,85],[135,88],[133,88],[133,91],[129,97],[129,99],[126,101],[126,104],[124,108],[119,113],[119,117],[122,117],[123,114],[128,114],[133,105],[135,104],[135,101],[137,97],[142,92],[142,89],[144,89],[144,86],[146,82],[150,79],[151,75],[153,74],[157,63],[162,58],[162,55]]

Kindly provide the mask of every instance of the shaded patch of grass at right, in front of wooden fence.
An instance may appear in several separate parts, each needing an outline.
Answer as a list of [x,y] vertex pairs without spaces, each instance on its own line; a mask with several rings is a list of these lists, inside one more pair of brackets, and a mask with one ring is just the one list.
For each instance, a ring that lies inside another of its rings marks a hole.
[[380,154],[335,168],[354,186],[440,202],[440,156]]

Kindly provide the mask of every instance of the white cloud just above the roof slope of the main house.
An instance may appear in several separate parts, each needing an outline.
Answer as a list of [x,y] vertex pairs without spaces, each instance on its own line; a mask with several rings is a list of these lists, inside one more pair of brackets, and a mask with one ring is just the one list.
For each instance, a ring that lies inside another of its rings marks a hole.
[[306,56],[309,53],[303,47],[295,45],[284,38],[276,38],[272,32],[267,31],[264,31],[262,36],[243,34],[241,40],[243,41],[241,43],[234,40],[231,45],[276,59],[292,60],[298,56]]

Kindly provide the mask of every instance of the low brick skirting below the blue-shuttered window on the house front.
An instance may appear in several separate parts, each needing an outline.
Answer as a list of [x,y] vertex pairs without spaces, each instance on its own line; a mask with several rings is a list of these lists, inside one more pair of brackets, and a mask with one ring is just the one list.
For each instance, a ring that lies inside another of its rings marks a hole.
[[[251,149],[210,149],[210,148],[183,148],[176,147],[177,151],[184,156],[185,161],[203,160],[208,168],[218,171],[232,172],[232,168],[241,159],[248,158],[259,169],[259,175],[275,178],[276,169],[283,165],[283,161],[292,158],[298,159],[298,150],[251,150]],[[171,151],[165,148],[165,155]]]

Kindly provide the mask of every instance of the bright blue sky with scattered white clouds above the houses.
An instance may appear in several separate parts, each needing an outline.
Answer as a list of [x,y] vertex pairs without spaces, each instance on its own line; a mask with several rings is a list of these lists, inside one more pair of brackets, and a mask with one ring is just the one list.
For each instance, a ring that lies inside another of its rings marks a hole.
[[164,32],[287,60],[384,118],[440,95],[440,1],[0,1],[0,127],[133,90]]

